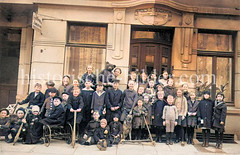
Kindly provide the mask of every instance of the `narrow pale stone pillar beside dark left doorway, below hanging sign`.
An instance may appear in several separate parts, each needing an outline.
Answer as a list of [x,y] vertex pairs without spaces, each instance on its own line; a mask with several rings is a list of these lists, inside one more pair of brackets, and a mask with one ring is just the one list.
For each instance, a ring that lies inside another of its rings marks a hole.
[[21,101],[28,95],[32,56],[32,37],[33,30],[31,27],[22,28],[16,96],[17,101]]

